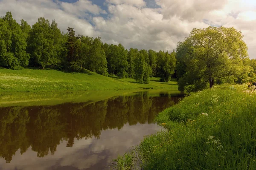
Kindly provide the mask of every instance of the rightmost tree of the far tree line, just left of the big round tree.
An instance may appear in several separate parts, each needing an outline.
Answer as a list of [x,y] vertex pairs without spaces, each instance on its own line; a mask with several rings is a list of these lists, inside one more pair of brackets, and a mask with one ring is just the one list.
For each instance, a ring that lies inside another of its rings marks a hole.
[[157,53],[157,73],[160,76],[161,82],[168,82],[171,79],[172,74],[174,74],[176,58],[175,51],[171,54],[168,51],[159,51]]

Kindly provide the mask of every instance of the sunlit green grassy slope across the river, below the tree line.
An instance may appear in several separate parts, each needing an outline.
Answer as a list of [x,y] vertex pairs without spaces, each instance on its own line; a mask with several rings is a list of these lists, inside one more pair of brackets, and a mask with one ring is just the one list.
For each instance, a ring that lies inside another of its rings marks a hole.
[[105,77],[90,71],[64,73],[56,70],[0,69],[0,91],[67,91],[67,90],[120,90],[143,88],[176,88],[176,82],[163,83],[151,78],[149,84],[134,79]]

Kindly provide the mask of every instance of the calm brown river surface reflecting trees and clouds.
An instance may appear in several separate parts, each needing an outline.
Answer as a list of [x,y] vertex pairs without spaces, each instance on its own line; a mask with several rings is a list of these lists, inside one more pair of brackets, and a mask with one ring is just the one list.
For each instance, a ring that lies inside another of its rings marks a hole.
[[0,107],[0,170],[102,170],[161,127],[182,97],[170,90],[93,102]]

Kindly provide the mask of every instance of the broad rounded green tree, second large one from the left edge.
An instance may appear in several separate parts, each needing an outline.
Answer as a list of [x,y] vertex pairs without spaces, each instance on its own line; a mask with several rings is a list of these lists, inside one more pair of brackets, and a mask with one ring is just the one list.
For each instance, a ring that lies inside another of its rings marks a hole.
[[50,24],[49,20],[40,17],[32,26],[28,42],[32,65],[41,65],[44,69],[61,63],[65,41],[55,20]]

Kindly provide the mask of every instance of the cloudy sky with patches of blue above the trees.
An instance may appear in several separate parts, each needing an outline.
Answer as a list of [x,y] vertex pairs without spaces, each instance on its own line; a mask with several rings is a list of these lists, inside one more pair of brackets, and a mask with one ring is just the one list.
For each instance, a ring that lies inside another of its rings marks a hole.
[[17,22],[54,19],[61,31],[127,49],[172,51],[193,28],[234,27],[256,58],[256,0],[0,0],[0,16],[7,11]]

